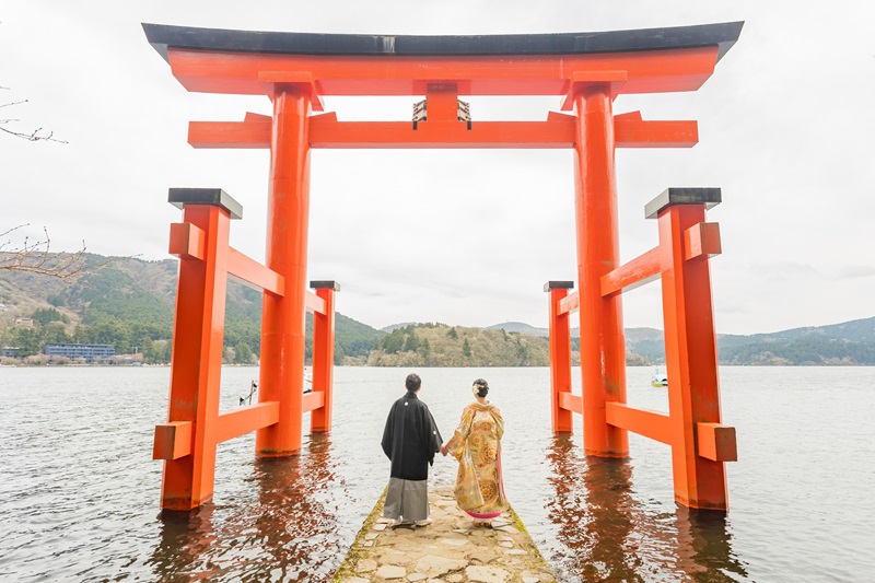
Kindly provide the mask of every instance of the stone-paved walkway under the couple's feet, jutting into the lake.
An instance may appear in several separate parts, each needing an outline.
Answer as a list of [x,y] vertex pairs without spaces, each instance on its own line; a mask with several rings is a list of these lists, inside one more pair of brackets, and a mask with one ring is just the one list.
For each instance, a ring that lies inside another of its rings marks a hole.
[[336,583],[541,583],[556,581],[512,510],[474,526],[456,506],[452,488],[429,493],[429,526],[392,528],[383,518],[385,494],[364,522]]

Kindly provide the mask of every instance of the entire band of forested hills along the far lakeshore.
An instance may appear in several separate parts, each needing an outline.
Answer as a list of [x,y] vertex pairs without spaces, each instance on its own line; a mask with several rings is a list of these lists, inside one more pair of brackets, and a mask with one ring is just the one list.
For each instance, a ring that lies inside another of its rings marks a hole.
[[[88,258],[94,264],[107,259],[98,255]],[[112,343],[119,353],[139,352],[148,362],[166,362],[173,336],[177,272],[176,259],[144,261],[124,257],[114,258],[106,267],[74,283],[0,270],[0,347],[20,348],[20,354],[26,357],[38,354],[46,342]],[[386,365],[419,357],[425,362],[420,348],[409,350],[416,346],[413,337],[434,342],[431,365],[538,365],[547,346],[547,328],[522,322],[505,322],[486,329],[452,327],[463,339],[448,342],[435,331],[450,334],[451,327],[445,324],[406,323],[377,330],[342,314],[336,316],[338,363]],[[232,279],[225,308],[226,360],[247,362],[253,354],[257,355],[260,327],[261,294]],[[307,333],[311,330],[308,317]],[[578,328],[571,330],[574,353],[580,347],[578,333]],[[662,330],[627,328],[625,333],[627,362],[665,361]],[[396,346],[399,335],[401,345]],[[390,339],[388,345],[386,338]],[[468,340],[465,352],[470,350],[471,357],[463,353],[465,339]],[[310,347],[308,340],[307,350]],[[875,365],[875,317],[771,334],[719,335],[718,351],[721,364]]]

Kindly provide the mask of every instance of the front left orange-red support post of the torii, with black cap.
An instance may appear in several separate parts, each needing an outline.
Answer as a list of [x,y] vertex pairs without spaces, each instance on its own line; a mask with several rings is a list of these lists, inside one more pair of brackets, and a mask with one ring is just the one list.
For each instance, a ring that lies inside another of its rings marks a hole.
[[171,231],[179,278],[170,410],[168,423],[155,428],[153,457],[165,459],[161,508],[187,511],[213,492],[228,241],[242,209],[219,189],[172,188],[170,201],[183,207],[184,223]]

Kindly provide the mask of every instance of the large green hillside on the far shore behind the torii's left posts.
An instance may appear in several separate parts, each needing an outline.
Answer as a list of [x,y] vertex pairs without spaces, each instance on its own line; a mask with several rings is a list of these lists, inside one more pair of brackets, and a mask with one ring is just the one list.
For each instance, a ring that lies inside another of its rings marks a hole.
[[[92,264],[106,257],[90,255]],[[147,362],[166,362],[173,336],[177,259],[144,261],[114,258],[75,282],[22,271],[0,271],[0,346],[38,354],[46,342],[110,343],[118,353],[143,353]],[[229,280],[225,302],[226,359],[260,352],[261,293]],[[16,318],[39,315],[34,326]],[[307,314],[307,335],[312,315]],[[336,362],[364,363],[385,333],[342,314],[335,319]],[[307,352],[312,340],[307,339]],[[246,359],[244,359],[246,361]]]

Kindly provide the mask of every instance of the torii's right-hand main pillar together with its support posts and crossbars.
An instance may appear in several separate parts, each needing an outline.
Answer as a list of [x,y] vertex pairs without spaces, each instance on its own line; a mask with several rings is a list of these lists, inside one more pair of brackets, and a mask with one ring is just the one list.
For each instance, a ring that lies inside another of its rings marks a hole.
[[[716,224],[704,222],[704,210],[720,201],[720,191],[666,190],[646,209],[649,218],[658,218],[660,247],[630,265],[619,265],[611,113],[616,91],[608,78],[575,83],[571,93],[578,112],[574,170],[584,452],[598,457],[627,457],[628,430],[638,430],[672,446],[677,502],[697,509],[726,510],[724,462],[736,458],[735,430],[720,423],[716,340],[707,261],[709,255],[719,253],[720,232]],[[617,290],[605,291],[606,280],[608,287],[611,280],[627,279],[638,285],[660,275],[668,416],[626,405],[621,294]],[[558,323],[555,303],[551,295],[551,335]],[[568,422],[557,415],[562,408],[557,392],[568,390],[568,383],[558,370],[564,368],[560,366],[563,358],[551,359],[553,428],[561,431]]]

